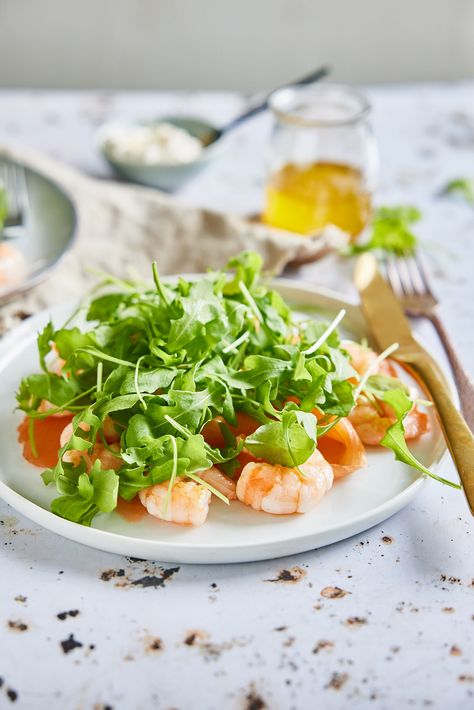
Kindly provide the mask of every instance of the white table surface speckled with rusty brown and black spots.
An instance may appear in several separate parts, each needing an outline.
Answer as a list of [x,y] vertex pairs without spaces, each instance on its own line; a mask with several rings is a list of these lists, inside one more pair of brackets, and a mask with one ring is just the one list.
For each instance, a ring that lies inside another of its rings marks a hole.
[[[474,176],[474,83],[369,93],[378,201],[422,209],[442,313],[473,371],[474,211],[437,193]],[[185,111],[219,124],[243,104],[234,94],[0,92],[0,141],[105,176],[92,143],[103,120]],[[265,116],[243,127],[183,199],[255,211],[268,130]],[[299,275],[347,292],[349,273],[330,259]],[[444,472],[454,475],[448,461]],[[0,502],[0,707],[472,707],[471,527],[462,496],[430,482],[413,505],[337,545],[178,567],[86,549]]]

